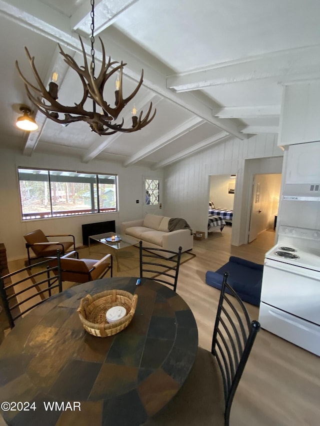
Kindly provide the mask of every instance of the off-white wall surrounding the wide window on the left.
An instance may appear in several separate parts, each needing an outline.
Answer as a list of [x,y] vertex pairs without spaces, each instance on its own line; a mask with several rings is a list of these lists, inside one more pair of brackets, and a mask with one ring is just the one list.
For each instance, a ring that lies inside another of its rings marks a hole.
[[[119,211],[22,222],[17,167],[117,174]],[[145,175],[161,178],[163,171],[150,171],[147,167],[139,166],[124,168],[117,163],[103,161],[84,164],[78,159],[56,155],[33,154],[26,157],[18,151],[0,149],[0,242],[6,247],[8,260],[26,257],[23,235],[38,228],[44,234],[72,234],[76,245],[80,246],[82,224],[115,220],[116,231],[119,232],[121,222],[140,219],[145,201],[142,197],[142,179]],[[136,200],[139,200],[138,204]]]

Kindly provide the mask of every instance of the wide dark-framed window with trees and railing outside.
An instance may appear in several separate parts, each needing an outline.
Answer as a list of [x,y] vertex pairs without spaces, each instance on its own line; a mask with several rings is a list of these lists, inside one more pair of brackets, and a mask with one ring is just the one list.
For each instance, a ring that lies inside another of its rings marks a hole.
[[22,219],[117,210],[116,176],[18,168]]

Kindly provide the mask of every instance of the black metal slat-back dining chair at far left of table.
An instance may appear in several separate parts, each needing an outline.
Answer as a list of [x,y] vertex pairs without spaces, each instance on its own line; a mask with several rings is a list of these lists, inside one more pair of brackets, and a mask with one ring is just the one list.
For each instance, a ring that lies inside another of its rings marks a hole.
[[0,295],[10,328],[17,318],[50,297],[54,289],[62,291],[59,250],[53,266],[48,259],[0,276]]

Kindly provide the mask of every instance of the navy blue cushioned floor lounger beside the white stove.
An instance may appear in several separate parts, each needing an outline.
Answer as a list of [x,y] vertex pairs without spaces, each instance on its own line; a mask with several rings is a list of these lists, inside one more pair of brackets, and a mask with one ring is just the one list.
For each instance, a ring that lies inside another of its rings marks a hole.
[[215,272],[207,271],[205,282],[221,289],[223,273],[228,272],[228,284],[236,291],[243,302],[259,306],[263,265],[239,257],[230,256],[229,261]]

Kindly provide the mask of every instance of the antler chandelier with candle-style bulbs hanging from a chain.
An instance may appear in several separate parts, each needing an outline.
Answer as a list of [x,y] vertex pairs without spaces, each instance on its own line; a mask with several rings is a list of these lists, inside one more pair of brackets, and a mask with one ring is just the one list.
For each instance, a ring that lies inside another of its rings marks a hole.
[[[126,63],[121,63],[117,61],[112,61],[109,57],[107,63],[105,61],[105,51],[101,38],[99,37],[102,49],[102,64],[100,68],[99,74],[95,77],[95,63],[94,63],[94,0],[90,0],[90,4],[92,6],[90,16],[91,16],[91,63],[88,66],[83,42],[81,37],[79,36],[81,49],[83,54],[83,66],[78,66],[74,59],[65,53],[60,44],[58,44],[60,49],[60,54],[63,56],[64,61],[68,66],[74,69],[83,86],[83,95],[82,99],[79,103],[74,103],[74,106],[65,106],[60,104],[57,101],[57,93],[58,93],[58,85],[51,81],[49,83],[49,88],[46,90],[44,84],[42,83],[39,74],[34,66],[34,57],[28,52],[28,49],[24,47],[26,56],[28,58],[30,67],[34,74],[35,80],[38,84],[38,87],[35,87],[31,84],[27,79],[23,76],[18,66],[18,62],[15,61],[15,66],[19,72],[20,77],[24,81],[24,87],[26,90],[27,97],[33,103],[33,105],[41,111],[46,117],[60,124],[69,124],[76,121],[84,121],[89,124],[91,130],[98,135],[111,135],[116,132],[124,132],[130,133],[136,130],[140,130],[145,127],[151,120],[153,120],[156,110],[154,109],[153,114],[151,114],[152,102],[150,102],[150,106],[145,116],[142,118],[143,111],[140,112],[139,116],[136,116],[136,109],[133,107],[132,109],[132,126],[131,127],[123,127],[124,121],[120,123],[116,123],[119,113],[122,111],[124,106],[136,95],[137,91],[141,87],[143,81],[143,69],[141,70],[140,80],[138,85],[133,90],[133,92],[123,98],[122,94],[122,72],[123,67]],[[115,65],[118,64],[119,65]],[[115,66],[114,66],[115,65]],[[103,89],[107,80],[111,75],[115,74],[119,71],[119,78],[116,81],[116,90],[115,90],[115,106],[111,107],[110,104],[104,100],[103,98]],[[35,92],[33,95],[30,91]],[[84,103],[87,99],[92,99],[92,111],[87,111],[84,108]],[[101,113],[96,111],[96,107],[101,107]],[[64,115],[64,117],[63,117]]]

